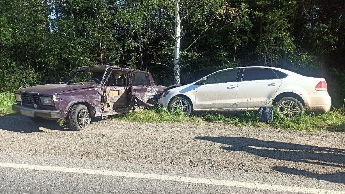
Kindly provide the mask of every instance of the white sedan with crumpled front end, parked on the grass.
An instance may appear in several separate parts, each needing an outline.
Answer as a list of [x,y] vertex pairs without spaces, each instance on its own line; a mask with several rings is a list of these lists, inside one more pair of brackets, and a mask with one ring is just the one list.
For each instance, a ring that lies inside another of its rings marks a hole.
[[170,111],[244,111],[276,106],[287,118],[305,111],[326,112],[331,97],[323,78],[274,67],[238,67],[214,72],[185,85],[168,87],[158,100]]

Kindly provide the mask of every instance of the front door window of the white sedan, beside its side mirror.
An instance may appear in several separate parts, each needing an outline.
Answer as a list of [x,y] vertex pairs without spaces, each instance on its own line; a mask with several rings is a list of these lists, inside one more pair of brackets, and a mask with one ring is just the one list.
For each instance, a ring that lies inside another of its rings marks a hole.
[[206,84],[219,84],[237,80],[239,69],[221,71],[206,78]]

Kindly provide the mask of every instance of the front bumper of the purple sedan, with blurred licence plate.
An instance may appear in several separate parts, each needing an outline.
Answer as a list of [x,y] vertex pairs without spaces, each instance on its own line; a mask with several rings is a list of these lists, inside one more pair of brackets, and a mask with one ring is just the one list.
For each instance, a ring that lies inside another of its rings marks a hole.
[[20,105],[12,105],[12,110],[29,117],[41,117],[47,119],[59,119],[62,117],[60,110],[42,110]]

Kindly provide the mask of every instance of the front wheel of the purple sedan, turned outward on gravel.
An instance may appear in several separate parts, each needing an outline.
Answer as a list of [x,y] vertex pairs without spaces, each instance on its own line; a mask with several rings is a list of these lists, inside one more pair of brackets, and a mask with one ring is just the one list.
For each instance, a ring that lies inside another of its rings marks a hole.
[[69,127],[74,131],[81,131],[90,126],[89,110],[84,105],[73,106],[68,113]]

